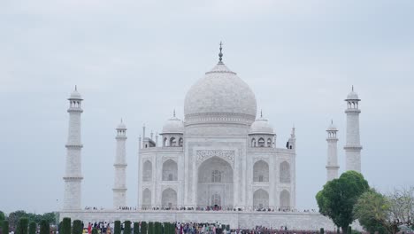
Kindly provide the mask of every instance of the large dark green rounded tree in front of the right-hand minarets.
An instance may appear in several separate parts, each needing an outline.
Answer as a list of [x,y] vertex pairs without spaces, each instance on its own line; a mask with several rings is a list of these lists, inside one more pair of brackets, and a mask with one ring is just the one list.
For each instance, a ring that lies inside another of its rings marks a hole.
[[353,209],[357,199],[368,190],[369,185],[363,175],[347,171],[318,191],[316,199],[319,213],[329,217],[345,233],[349,224],[356,220]]

